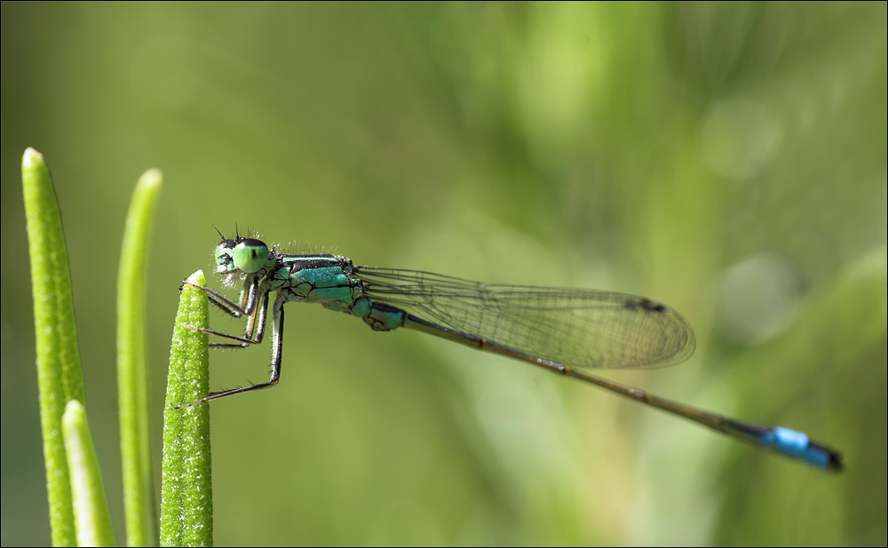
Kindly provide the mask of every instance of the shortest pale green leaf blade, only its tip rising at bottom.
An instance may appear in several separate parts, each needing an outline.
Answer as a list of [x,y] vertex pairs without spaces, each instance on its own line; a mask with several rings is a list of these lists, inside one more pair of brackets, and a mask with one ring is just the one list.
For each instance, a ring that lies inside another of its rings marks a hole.
[[71,473],[77,545],[114,546],[114,528],[111,527],[111,513],[108,512],[108,501],[102,486],[99,460],[92,447],[86,409],[80,401],[67,402],[62,433]]

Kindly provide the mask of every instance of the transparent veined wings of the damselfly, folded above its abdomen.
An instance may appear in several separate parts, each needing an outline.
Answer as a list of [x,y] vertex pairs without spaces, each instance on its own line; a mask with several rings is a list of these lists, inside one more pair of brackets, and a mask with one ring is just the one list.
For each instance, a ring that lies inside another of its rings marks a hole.
[[694,353],[691,326],[649,298],[370,266],[354,274],[374,301],[572,367],[653,368]]

